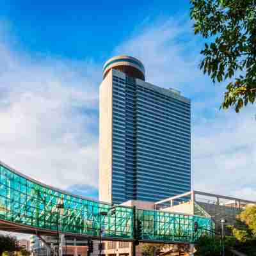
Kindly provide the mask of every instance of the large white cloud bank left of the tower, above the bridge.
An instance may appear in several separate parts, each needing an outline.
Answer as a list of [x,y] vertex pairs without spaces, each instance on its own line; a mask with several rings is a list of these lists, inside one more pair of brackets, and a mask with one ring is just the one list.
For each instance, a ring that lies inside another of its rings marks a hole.
[[31,57],[6,42],[0,56],[1,161],[58,188],[97,187],[100,69]]

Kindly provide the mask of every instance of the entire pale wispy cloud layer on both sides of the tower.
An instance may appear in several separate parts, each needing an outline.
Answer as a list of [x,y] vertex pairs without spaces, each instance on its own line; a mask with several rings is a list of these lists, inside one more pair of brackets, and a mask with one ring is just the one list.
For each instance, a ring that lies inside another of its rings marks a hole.
[[[0,41],[1,159],[47,184],[94,193],[102,63],[29,56],[9,45]],[[147,81],[192,99],[195,189],[256,200],[254,109],[219,110],[224,87],[198,70],[201,45],[186,19],[147,20],[113,54],[139,58]]]

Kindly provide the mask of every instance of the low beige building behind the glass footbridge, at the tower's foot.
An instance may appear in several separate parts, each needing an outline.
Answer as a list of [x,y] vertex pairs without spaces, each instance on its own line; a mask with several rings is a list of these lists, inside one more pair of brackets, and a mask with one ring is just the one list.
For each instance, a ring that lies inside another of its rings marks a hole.
[[[256,201],[244,200],[231,196],[221,196],[200,191],[189,191],[187,193],[172,196],[159,202],[145,202],[129,200],[122,205],[136,206],[138,209],[159,209],[168,212],[206,216],[212,218],[215,223],[216,231],[221,228],[221,220],[225,219],[225,225],[234,225],[236,216],[245,209],[247,205],[256,205]],[[193,252],[186,244],[182,245],[185,251]],[[188,248],[186,248],[186,246]],[[94,241],[93,256],[99,255],[99,241]],[[136,256],[141,256],[142,244],[136,246]],[[173,252],[178,250],[177,245],[173,244]],[[180,250],[180,249],[179,249]],[[164,253],[164,252],[163,252]],[[131,256],[132,244],[121,241],[103,241],[102,256]],[[188,255],[188,254],[184,254]],[[192,254],[191,254],[192,255]]]

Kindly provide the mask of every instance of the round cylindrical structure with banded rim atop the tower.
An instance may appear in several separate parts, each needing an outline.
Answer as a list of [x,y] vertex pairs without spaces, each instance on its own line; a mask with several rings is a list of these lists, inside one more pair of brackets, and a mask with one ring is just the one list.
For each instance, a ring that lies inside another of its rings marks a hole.
[[103,79],[107,76],[111,68],[124,72],[128,76],[140,78],[145,81],[145,68],[143,64],[141,61],[131,56],[120,55],[106,61],[103,67]]

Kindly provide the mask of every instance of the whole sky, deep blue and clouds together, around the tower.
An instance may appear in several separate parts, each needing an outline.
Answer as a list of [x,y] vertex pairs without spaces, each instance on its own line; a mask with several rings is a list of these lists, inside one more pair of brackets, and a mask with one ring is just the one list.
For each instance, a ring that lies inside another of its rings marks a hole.
[[1,1],[1,161],[97,196],[102,65],[129,54],[192,100],[193,188],[255,200],[255,107],[220,111],[225,84],[198,70],[189,1],[86,2]]

